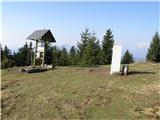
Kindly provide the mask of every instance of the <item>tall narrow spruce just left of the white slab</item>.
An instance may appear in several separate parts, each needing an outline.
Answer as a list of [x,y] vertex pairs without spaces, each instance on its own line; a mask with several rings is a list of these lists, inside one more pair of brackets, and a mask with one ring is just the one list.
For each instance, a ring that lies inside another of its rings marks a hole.
[[110,64],[112,60],[112,48],[114,39],[111,29],[108,29],[102,41],[102,61],[103,64]]

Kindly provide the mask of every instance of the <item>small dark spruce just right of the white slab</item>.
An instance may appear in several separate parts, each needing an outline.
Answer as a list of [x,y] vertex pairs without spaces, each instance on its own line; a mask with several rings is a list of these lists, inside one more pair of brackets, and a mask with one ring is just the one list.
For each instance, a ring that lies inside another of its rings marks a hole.
[[122,58],[122,64],[130,64],[133,63],[133,56],[132,54],[127,50]]

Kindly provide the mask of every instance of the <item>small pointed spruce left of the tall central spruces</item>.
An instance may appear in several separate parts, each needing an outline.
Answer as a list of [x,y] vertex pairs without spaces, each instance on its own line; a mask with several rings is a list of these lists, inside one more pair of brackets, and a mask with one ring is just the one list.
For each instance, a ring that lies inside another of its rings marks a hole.
[[77,64],[77,56],[76,56],[76,49],[74,46],[71,47],[69,52],[69,61],[71,65]]

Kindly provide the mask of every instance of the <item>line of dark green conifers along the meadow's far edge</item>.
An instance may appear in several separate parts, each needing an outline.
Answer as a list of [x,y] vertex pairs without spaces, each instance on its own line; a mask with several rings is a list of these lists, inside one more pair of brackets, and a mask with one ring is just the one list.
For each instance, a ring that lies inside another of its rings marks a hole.
[[[158,38],[157,38],[158,37]],[[158,41],[157,41],[158,40]],[[159,35],[155,34],[148,50],[147,60],[152,62],[160,62],[159,51],[160,45]],[[69,51],[63,47],[46,46],[45,64],[54,66],[93,66],[111,64],[112,48],[114,45],[114,36],[111,29],[108,29],[100,43],[95,32],[90,32],[88,28],[81,33],[81,40],[77,46],[72,46]],[[18,49],[17,53],[11,53],[7,46],[1,47],[1,68],[9,68],[14,66],[29,66],[32,64],[33,50],[32,42],[24,44]],[[156,48],[155,48],[156,47]],[[158,49],[158,50],[157,50]],[[156,52],[155,52],[156,51]],[[155,54],[155,55],[153,55]],[[32,56],[32,57],[31,57]],[[38,61],[37,61],[38,62]],[[133,55],[127,50],[122,58],[123,64],[134,62]]]

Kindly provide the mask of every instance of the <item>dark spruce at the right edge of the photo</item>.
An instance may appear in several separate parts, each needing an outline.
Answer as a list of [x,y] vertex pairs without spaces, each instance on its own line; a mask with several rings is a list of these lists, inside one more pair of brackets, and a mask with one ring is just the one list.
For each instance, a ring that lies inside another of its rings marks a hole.
[[160,62],[160,36],[158,32],[153,36],[146,59],[150,62]]

